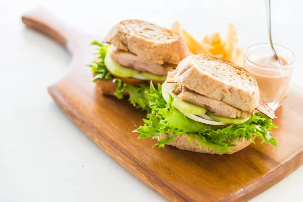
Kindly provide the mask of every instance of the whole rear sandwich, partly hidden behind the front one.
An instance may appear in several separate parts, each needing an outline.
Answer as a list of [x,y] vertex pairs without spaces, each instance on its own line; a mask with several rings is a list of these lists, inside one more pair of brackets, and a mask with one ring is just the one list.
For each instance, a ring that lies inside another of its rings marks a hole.
[[188,55],[188,48],[176,32],[140,20],[124,20],[115,25],[90,65],[93,81],[101,94],[123,98],[136,108],[149,110],[149,83],[163,83]]

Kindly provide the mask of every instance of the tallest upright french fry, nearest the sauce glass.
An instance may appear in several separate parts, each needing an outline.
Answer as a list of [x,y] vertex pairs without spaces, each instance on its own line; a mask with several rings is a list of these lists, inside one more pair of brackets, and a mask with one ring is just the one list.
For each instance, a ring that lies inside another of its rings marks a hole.
[[237,31],[233,24],[229,24],[227,29],[227,37],[224,41],[224,47],[225,47],[225,59],[231,61],[233,58],[233,54],[235,51],[236,43],[238,42],[237,38]]

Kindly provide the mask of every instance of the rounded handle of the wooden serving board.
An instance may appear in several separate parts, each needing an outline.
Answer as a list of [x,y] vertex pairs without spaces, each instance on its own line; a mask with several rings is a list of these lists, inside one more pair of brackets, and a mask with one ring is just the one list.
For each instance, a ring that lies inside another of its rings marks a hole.
[[58,41],[69,52],[73,53],[76,50],[78,43],[76,38],[79,38],[81,33],[49,14],[47,10],[38,8],[28,12],[22,16],[22,22],[27,27],[40,31]]

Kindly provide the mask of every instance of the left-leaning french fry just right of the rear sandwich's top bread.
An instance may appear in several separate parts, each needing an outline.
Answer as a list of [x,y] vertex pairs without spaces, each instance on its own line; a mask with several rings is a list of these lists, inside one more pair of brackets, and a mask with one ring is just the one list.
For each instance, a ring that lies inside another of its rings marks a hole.
[[191,51],[193,54],[207,54],[212,55],[212,53],[209,51],[209,49],[203,45],[200,44],[197,40],[195,40],[190,34],[188,34],[183,29],[183,39],[185,43],[187,44],[189,51]]

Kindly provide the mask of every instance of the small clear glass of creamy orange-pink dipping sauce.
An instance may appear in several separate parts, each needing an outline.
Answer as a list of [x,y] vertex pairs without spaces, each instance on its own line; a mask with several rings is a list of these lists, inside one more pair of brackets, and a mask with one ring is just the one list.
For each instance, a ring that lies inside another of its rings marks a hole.
[[276,110],[282,105],[290,88],[295,56],[290,49],[274,44],[282,66],[274,58],[269,43],[249,46],[244,53],[243,67],[255,76],[260,97]]

